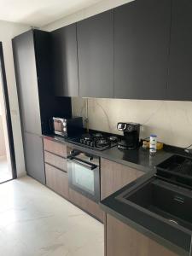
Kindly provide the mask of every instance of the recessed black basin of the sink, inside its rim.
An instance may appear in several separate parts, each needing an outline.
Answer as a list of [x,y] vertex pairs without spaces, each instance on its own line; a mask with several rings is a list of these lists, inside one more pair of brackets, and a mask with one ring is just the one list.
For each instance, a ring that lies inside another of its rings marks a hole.
[[189,191],[155,178],[124,198],[173,224],[192,230],[192,193]]

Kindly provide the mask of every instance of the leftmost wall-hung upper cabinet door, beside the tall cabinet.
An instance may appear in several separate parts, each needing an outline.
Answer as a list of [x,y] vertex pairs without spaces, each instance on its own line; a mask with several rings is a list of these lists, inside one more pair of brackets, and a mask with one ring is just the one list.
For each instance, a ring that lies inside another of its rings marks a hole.
[[76,23],[51,32],[56,96],[79,96]]

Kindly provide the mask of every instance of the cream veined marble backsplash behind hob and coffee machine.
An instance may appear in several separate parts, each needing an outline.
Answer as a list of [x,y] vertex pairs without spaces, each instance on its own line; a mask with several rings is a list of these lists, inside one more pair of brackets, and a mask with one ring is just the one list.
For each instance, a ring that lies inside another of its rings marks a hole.
[[[86,99],[73,97],[73,115],[86,114]],[[137,101],[124,99],[88,99],[90,129],[122,134],[117,123],[137,122],[142,125],[141,137],[151,133],[160,142],[177,147],[192,143],[192,102]]]

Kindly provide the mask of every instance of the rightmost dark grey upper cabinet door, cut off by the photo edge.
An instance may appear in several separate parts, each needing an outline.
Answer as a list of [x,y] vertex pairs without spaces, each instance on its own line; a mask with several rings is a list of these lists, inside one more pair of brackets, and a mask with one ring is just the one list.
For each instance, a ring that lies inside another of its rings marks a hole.
[[172,1],[168,96],[192,100],[192,2]]

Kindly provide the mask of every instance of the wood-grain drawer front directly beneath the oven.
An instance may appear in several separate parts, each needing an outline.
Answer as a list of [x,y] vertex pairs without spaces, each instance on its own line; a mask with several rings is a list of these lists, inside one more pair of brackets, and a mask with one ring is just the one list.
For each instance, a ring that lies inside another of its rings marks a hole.
[[69,189],[69,200],[85,212],[89,212],[91,215],[103,222],[104,212],[95,201],[91,201],[89,198],[79,194],[73,189]]

